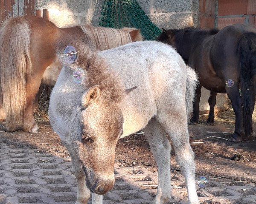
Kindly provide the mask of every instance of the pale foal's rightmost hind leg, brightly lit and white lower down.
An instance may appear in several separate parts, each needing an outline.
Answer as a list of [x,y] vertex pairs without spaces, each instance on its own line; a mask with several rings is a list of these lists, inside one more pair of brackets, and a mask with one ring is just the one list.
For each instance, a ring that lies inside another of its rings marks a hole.
[[179,105],[169,105],[171,110],[163,108],[159,111],[157,119],[163,125],[167,135],[172,139],[172,144],[176,153],[176,161],[186,180],[189,197],[189,204],[200,204],[195,188],[195,162],[194,153],[189,144],[189,133],[186,117],[186,109]]

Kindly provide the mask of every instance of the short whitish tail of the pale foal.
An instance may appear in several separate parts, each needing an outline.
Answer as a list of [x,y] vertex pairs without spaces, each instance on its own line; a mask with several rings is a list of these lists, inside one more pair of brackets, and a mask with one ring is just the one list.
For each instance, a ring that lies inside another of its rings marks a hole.
[[187,117],[188,120],[190,118],[190,111],[192,111],[193,107],[193,101],[195,98],[195,89],[198,85],[198,76],[196,72],[190,68],[189,66],[186,66],[186,111],[187,111]]

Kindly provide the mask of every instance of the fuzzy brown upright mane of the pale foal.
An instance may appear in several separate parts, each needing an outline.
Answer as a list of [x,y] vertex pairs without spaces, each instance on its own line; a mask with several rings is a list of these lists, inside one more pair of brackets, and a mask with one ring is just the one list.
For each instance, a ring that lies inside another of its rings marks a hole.
[[108,102],[120,102],[125,96],[125,87],[119,75],[108,68],[108,62],[97,54],[93,48],[79,42],[76,50],[78,59],[66,66],[72,70],[82,68],[85,71],[82,84],[86,89],[99,85],[101,98]]

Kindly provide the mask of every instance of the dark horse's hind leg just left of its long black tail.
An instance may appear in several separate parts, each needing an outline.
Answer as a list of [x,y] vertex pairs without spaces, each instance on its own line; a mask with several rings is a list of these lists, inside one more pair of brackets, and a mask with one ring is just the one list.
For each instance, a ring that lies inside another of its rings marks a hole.
[[236,114],[235,132],[230,138],[230,141],[241,142],[242,137],[244,136],[244,126],[243,126],[242,100],[239,93],[238,85],[234,85],[233,87],[226,87],[226,92],[227,92],[227,96],[230,98],[233,110]]

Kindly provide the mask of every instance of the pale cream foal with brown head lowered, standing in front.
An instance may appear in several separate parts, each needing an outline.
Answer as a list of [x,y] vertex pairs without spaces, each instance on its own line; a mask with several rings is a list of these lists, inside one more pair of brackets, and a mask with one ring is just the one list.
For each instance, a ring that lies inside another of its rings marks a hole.
[[[52,128],[71,156],[78,187],[76,204],[87,204],[90,192],[93,204],[102,204],[101,194],[111,190],[115,181],[117,140],[141,129],[158,165],[153,203],[171,198],[172,140],[189,203],[199,204],[187,125],[197,84],[195,71],[174,48],[155,41],[94,53],[84,45],[76,48],[78,59],[64,65],[49,102]],[[70,77],[79,70],[80,83]]]

